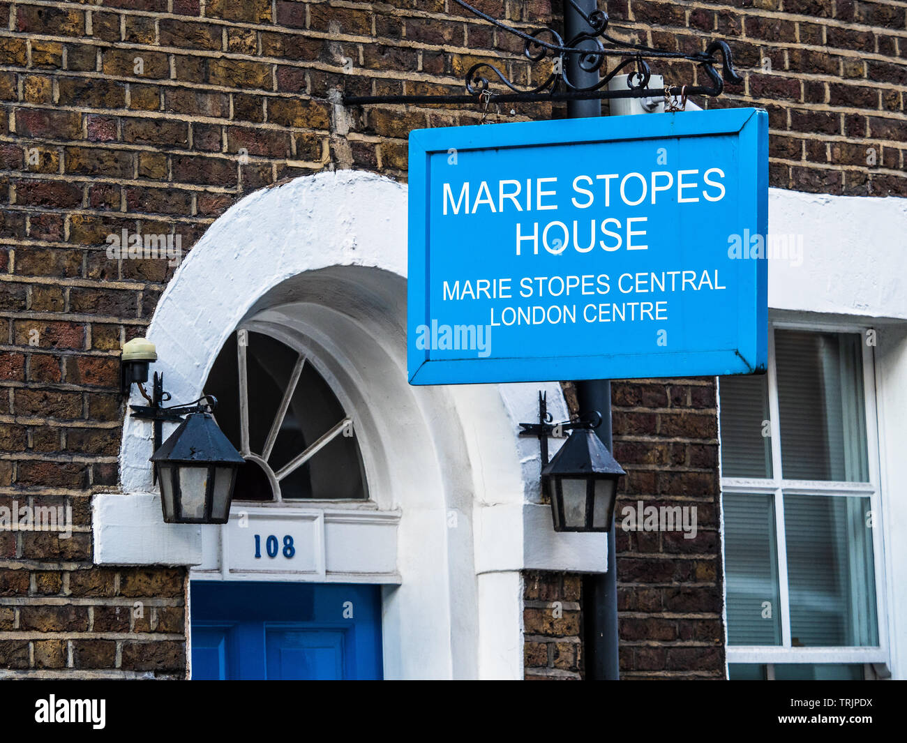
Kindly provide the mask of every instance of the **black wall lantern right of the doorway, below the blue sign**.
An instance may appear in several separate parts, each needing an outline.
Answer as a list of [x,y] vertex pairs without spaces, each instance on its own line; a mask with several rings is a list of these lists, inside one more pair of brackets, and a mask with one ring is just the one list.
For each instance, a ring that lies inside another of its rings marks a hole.
[[[541,486],[551,497],[555,532],[608,532],[614,517],[618,480],[624,474],[595,433],[601,416],[591,421],[552,424],[546,399],[539,394],[539,422],[521,423],[521,435],[538,436]],[[548,461],[548,437],[570,430],[560,451]]]

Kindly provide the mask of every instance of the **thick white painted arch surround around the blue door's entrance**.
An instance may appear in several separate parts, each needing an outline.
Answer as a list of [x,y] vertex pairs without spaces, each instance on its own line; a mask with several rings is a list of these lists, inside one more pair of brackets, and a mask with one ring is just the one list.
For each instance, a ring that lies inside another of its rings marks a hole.
[[[152,369],[182,402],[200,395],[240,326],[306,349],[354,417],[372,513],[399,513],[385,676],[522,678],[521,571],[604,571],[606,537],[552,532],[539,504],[538,444],[516,435],[537,415],[540,388],[566,417],[557,384],[407,384],[405,276],[405,185],[339,171],[258,191],[214,222],[162,295],[148,332]],[[95,560],[198,570],[208,559],[203,530],[228,527],[161,522],[150,437],[150,425],[127,417],[126,497],[95,497]],[[336,518],[336,506],[321,506],[323,521]],[[356,552],[333,539],[328,562]],[[367,569],[339,575],[369,579]]]

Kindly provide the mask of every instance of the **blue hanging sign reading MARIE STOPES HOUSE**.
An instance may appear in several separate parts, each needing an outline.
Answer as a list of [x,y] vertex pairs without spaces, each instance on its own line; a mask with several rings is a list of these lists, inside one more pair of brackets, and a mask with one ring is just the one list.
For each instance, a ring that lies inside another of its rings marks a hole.
[[411,132],[410,384],[764,371],[767,200],[756,109]]

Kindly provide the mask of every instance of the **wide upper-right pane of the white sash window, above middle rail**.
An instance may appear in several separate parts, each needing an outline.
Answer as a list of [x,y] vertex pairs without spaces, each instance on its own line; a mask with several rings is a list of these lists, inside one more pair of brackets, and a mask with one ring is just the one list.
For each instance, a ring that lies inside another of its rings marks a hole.
[[775,332],[785,479],[869,481],[862,341],[854,333]]

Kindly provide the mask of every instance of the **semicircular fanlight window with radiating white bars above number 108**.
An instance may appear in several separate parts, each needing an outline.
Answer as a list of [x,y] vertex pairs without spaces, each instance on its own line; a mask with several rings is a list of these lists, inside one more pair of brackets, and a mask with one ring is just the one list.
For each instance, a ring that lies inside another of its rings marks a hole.
[[367,497],[352,419],[303,354],[240,329],[204,391],[218,398],[218,425],[246,459],[234,500]]

